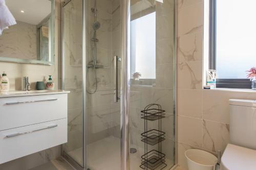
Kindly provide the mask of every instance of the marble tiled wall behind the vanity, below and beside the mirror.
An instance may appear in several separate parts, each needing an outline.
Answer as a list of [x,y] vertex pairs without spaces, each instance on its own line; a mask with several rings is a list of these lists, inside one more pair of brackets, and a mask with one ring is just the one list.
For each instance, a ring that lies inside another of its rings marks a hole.
[[[44,77],[53,75],[53,81],[56,83],[55,87],[58,88],[60,80],[60,69],[61,69],[61,53],[60,53],[60,2],[55,0],[55,64],[48,65],[37,65],[37,64],[19,64],[0,62],[0,72],[6,71],[7,76],[10,79],[11,90],[20,90],[22,88],[22,77],[29,76],[29,81],[32,88],[35,89],[36,81],[42,81]],[[38,153],[34,153],[22,158],[15,159],[10,162],[0,164],[0,169],[5,170],[27,170],[44,164],[52,159],[60,156],[60,146],[47,149]]]

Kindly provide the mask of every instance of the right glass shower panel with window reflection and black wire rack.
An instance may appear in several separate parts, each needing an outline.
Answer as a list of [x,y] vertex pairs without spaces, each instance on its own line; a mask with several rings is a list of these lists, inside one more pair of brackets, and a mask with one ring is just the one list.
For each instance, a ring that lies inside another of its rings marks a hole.
[[131,1],[130,169],[175,164],[175,1]]

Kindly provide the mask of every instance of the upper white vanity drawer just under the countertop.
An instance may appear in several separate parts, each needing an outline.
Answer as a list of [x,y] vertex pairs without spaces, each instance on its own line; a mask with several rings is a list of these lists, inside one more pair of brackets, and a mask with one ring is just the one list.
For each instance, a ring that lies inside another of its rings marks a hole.
[[0,131],[67,118],[67,94],[0,98]]

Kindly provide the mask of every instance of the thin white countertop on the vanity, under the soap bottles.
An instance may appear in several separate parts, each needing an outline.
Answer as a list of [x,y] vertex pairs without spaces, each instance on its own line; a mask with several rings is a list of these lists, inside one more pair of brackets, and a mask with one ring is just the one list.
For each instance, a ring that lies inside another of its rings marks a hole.
[[0,92],[0,98],[11,98],[11,97],[31,96],[31,95],[63,94],[63,93],[70,93],[70,91],[67,91],[67,90],[9,91],[9,92]]

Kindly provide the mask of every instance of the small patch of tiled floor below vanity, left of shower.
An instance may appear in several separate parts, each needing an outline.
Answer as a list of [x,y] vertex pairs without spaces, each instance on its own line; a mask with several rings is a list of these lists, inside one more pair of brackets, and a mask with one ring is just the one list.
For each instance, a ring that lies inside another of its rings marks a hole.
[[50,162],[34,167],[29,170],[75,170],[66,160],[62,157],[54,159]]

